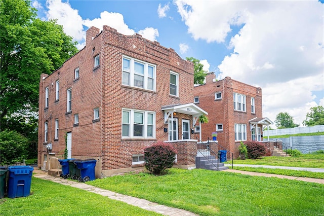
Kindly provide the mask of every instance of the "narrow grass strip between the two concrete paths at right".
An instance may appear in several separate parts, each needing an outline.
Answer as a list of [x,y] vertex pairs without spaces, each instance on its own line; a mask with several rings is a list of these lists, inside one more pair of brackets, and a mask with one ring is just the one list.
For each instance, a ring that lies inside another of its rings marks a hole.
[[263,172],[277,175],[289,175],[296,177],[307,177],[307,178],[320,178],[324,179],[324,172],[310,172],[310,171],[300,171],[300,170],[290,170],[290,169],[271,169],[263,167],[241,167],[234,166],[233,169],[250,171],[250,172]]

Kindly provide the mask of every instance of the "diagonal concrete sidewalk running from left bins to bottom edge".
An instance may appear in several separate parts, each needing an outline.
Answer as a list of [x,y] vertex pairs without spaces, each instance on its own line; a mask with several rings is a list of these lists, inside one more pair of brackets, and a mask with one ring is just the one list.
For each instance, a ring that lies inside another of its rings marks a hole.
[[37,170],[37,168],[34,169],[34,173],[36,173],[36,174],[34,174],[33,176],[37,177],[37,178],[42,178],[42,179],[52,181],[52,182],[55,182],[58,184],[83,189],[83,190],[86,190],[86,191],[89,191],[89,192],[92,192],[95,194],[100,194],[102,196],[106,196],[109,199],[119,200],[121,202],[125,202],[127,204],[134,205],[134,206],[137,206],[137,207],[149,210],[149,211],[155,211],[155,212],[163,214],[163,215],[172,215],[172,216],[197,215],[197,214],[194,214],[190,211],[186,211],[183,209],[168,207],[165,205],[160,205],[155,202],[147,201],[145,199],[131,197],[131,196],[123,195],[123,194],[118,194],[118,193],[115,193],[112,191],[96,188],[94,186],[87,185],[85,183],[79,183],[79,182],[70,181],[68,179],[64,179],[64,178],[60,178],[60,177],[54,177],[54,176],[48,175],[47,172],[45,172],[45,171]]

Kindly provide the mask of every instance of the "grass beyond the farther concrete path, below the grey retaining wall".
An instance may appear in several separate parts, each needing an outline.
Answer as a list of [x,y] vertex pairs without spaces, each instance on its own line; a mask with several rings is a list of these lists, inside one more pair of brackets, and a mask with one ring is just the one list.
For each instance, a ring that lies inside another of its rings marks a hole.
[[261,157],[261,159],[234,160],[234,164],[324,168],[324,154],[303,154],[300,157]]

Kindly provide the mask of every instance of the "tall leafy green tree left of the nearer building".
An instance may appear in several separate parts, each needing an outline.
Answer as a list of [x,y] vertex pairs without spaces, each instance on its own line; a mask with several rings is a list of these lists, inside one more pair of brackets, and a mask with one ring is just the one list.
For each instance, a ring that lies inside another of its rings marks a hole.
[[1,121],[38,111],[42,73],[51,74],[77,52],[56,20],[36,19],[29,0],[0,0]]

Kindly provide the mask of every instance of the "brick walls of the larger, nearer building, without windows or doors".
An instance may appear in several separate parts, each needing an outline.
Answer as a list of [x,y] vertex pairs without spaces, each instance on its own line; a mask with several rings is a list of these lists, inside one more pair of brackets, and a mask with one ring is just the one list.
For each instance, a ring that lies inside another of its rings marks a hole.
[[[99,66],[94,67],[99,55]],[[155,90],[123,85],[123,57],[130,57],[155,65]],[[74,70],[79,68],[79,78]],[[170,95],[170,71],[178,74],[179,95]],[[59,81],[59,99],[56,100],[56,81]],[[160,46],[139,34],[120,34],[109,26],[99,32],[96,27],[87,31],[86,47],[55,70],[51,75],[41,75],[39,84],[38,167],[48,169],[45,158],[63,159],[67,132],[72,134],[72,158],[95,158],[96,177],[132,169],[132,156],[143,154],[143,149],[157,141],[168,140],[164,128],[162,106],[187,104],[193,98],[193,63],[183,60],[171,48]],[[45,107],[45,89],[49,88],[49,105]],[[71,89],[71,112],[67,112],[67,90]],[[99,109],[99,119],[94,120],[94,109]],[[122,138],[122,110],[155,113],[155,137]],[[78,114],[78,124],[74,115]],[[179,137],[182,119],[192,116],[179,114]],[[58,139],[54,139],[55,119],[59,121]],[[48,122],[48,141],[45,142],[45,122]],[[194,135],[190,133],[190,138]],[[52,143],[52,150],[46,148]],[[180,144],[179,144],[180,145]],[[190,144],[191,145],[191,144]],[[191,147],[190,147],[191,148]],[[196,149],[192,147],[192,151]],[[49,154],[51,153],[51,154]],[[193,153],[190,153],[193,154]],[[189,154],[189,155],[190,155]],[[193,157],[193,156],[192,156]],[[194,158],[194,157],[193,157]],[[181,162],[182,159],[178,160]],[[193,159],[194,160],[194,159]],[[183,159],[184,165],[194,164]],[[179,164],[179,163],[178,163]]]

